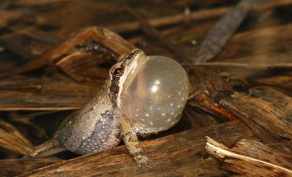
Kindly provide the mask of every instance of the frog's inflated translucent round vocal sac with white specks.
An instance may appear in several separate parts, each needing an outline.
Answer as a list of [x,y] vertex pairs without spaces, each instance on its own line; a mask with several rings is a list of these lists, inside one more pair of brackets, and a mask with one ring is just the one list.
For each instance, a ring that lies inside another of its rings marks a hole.
[[161,132],[182,117],[189,81],[183,67],[164,56],[145,56],[124,82],[119,108],[137,132]]

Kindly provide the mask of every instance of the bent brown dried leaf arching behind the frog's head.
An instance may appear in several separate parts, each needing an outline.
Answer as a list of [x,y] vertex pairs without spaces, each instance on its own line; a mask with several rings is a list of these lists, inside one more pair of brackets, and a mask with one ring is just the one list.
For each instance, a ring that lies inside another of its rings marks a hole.
[[48,63],[60,61],[75,52],[90,53],[101,50],[102,52],[106,52],[103,53],[104,55],[110,54],[113,56],[112,58],[116,58],[117,55],[127,53],[134,48],[128,41],[108,29],[88,27],[75,32],[71,38],[46,52],[40,58],[17,67],[14,70],[0,72],[0,77],[32,71]]

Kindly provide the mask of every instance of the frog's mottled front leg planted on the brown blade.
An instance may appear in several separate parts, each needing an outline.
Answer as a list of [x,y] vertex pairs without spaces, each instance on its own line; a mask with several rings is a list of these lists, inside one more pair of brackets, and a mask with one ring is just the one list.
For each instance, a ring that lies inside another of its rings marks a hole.
[[145,165],[149,169],[153,169],[147,162],[147,157],[144,155],[142,148],[139,145],[139,140],[133,131],[132,127],[123,118],[120,119],[121,136],[123,141],[131,154],[132,158],[138,165],[138,169],[141,169],[142,165]]

